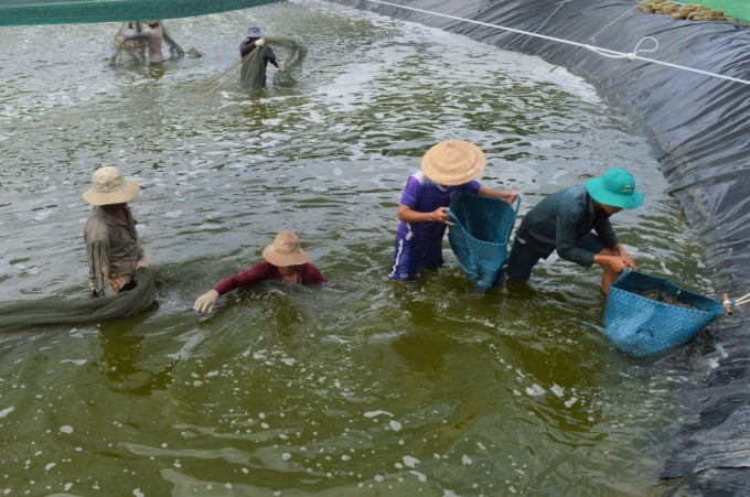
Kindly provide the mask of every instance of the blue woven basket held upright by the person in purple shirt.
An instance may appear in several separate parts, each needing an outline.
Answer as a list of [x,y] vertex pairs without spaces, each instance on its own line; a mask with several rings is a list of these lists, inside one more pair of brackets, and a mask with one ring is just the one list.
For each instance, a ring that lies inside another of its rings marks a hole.
[[461,192],[450,203],[450,248],[479,292],[502,285],[505,280],[507,242],[518,215],[506,202]]

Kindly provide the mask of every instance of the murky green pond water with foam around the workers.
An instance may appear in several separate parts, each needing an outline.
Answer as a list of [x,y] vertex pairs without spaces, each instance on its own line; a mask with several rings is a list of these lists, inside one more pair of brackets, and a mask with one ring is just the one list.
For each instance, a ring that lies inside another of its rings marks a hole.
[[[582,324],[601,323],[600,271],[550,257],[481,295],[446,242],[442,269],[386,277],[406,179],[462,138],[522,213],[631,170],[646,202],[613,225],[640,269],[715,295],[628,120],[538,58],[317,1],[167,25],[205,56],[109,67],[117,25],[2,30],[0,302],[86,296],[81,194],[100,165],[142,185],[130,206],[159,293],[136,317],[0,336],[0,494],[668,491],[662,461],[690,421],[675,393],[714,363],[614,350]],[[190,104],[248,25],[307,44],[299,84],[249,94],[237,75]],[[334,285],[192,311],[282,229]]]

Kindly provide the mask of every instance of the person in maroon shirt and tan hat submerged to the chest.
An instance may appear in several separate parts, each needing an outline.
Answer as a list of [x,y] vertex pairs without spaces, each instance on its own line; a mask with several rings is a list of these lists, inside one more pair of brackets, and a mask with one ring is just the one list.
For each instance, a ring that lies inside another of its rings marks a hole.
[[287,283],[309,284],[326,283],[318,268],[310,262],[310,256],[300,247],[300,239],[294,231],[281,231],[271,245],[262,250],[266,262],[253,266],[250,269],[227,278],[199,296],[193,310],[199,312],[213,311],[216,299],[221,295],[258,281],[283,280]]

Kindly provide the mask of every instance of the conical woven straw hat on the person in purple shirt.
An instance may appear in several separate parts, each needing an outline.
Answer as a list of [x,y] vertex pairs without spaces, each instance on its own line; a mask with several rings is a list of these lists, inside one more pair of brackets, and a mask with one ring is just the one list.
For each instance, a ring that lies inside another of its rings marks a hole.
[[462,185],[484,171],[484,152],[463,140],[442,141],[422,156],[421,170],[440,185]]

